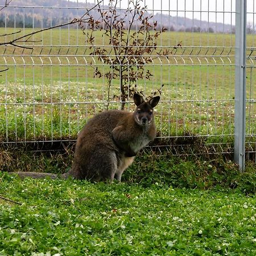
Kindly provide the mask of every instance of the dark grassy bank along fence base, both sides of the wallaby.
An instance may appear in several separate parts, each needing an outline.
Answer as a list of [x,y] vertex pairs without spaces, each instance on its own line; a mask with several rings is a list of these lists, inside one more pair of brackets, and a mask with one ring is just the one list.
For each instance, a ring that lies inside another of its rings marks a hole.
[[[73,146],[74,144],[67,143],[61,151],[47,151],[46,145],[42,152],[31,151],[32,147],[21,145],[19,148],[1,148],[1,171],[63,174],[71,167]],[[55,147],[57,149],[58,145]],[[144,151],[123,173],[122,181],[128,184],[137,183],[143,187],[158,183],[174,188],[203,190],[236,188],[245,194],[253,194],[256,192],[255,170],[255,163],[248,160],[245,172],[241,173],[236,164],[223,159],[221,155],[173,156],[162,152],[159,156],[155,152]]]

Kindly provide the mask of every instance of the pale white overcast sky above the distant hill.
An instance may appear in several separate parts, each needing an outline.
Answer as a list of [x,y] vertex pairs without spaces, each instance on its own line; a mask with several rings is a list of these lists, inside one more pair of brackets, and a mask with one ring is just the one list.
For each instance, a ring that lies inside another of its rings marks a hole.
[[[70,0],[73,2],[97,3],[96,0]],[[109,0],[104,0],[108,5]],[[129,0],[118,1],[118,7],[127,8]],[[143,0],[149,11],[170,14],[171,16],[186,16],[187,18],[209,20],[235,24],[236,0]],[[254,6],[255,5],[255,6]],[[256,25],[256,3],[247,0],[247,22]]]

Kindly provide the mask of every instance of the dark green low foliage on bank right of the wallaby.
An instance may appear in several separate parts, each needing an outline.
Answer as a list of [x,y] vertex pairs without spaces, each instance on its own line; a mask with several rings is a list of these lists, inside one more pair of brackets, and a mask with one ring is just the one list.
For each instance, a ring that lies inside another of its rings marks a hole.
[[236,164],[226,162],[221,156],[207,159],[143,154],[125,171],[122,180],[144,187],[158,183],[174,188],[239,188],[247,194],[256,192],[255,164],[248,164],[241,173]]

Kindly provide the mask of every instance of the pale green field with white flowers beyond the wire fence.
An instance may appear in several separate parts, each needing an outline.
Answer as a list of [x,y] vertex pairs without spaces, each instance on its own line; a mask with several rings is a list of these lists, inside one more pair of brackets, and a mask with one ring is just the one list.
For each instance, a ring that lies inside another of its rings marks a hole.
[[[1,141],[76,138],[87,118],[106,109],[106,77],[95,78],[93,72],[98,67],[104,74],[109,66],[90,55],[81,31],[46,31],[31,40],[38,41],[33,49],[2,48],[5,59],[0,65],[10,66],[0,76]],[[106,40],[102,32],[96,32],[96,46],[106,46]],[[248,46],[254,45],[253,35],[247,40]],[[180,42],[182,47],[175,50]],[[156,43],[172,53],[168,58],[152,58],[144,67],[144,72],[148,69],[152,73],[151,80],[138,80],[136,84],[146,95],[164,84],[156,115],[159,135],[230,137],[234,118],[234,35],[164,32]],[[250,72],[247,79],[253,84],[255,74],[253,69]],[[115,79],[110,88],[110,108],[119,108],[118,95],[119,81]],[[247,96],[255,98],[255,90],[248,87]],[[254,104],[248,104],[247,109],[247,131],[254,133]]]

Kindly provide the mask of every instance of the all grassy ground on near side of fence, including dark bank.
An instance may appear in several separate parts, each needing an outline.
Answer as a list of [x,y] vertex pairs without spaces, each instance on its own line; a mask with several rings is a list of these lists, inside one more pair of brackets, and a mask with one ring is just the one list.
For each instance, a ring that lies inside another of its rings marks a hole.
[[[0,152],[1,171],[60,174],[73,153]],[[139,154],[122,183],[0,172],[0,255],[255,255],[255,164]],[[6,199],[13,200],[8,201]]]

